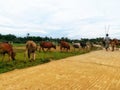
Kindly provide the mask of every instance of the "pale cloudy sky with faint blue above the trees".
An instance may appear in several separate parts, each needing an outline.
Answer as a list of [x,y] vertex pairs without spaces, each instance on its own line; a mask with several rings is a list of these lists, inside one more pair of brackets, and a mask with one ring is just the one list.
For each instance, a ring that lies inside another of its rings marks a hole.
[[120,0],[0,0],[0,33],[120,39]]

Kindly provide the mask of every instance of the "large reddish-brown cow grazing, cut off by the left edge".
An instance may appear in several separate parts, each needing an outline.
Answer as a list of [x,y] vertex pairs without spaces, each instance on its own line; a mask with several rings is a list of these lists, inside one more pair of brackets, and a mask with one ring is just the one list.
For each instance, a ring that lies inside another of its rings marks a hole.
[[2,61],[5,58],[5,54],[8,54],[9,61],[15,60],[15,52],[13,51],[12,45],[9,43],[0,43],[0,53],[3,55]]

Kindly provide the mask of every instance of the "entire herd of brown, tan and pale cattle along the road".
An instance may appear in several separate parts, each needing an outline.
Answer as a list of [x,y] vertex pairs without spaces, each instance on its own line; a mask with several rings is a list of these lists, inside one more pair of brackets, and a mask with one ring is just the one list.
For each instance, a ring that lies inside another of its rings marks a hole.
[[[113,39],[110,41],[110,45],[112,47],[112,51],[114,51],[114,48],[116,46],[119,46],[120,45],[120,42],[119,40],[117,39]],[[66,41],[60,41],[59,43],[59,46],[60,46],[60,51],[66,51],[68,52],[71,48],[71,45],[66,42]],[[79,43],[72,43],[72,47],[75,49],[83,49],[83,50],[90,50],[92,47],[93,47],[93,43],[91,42],[79,42]],[[104,46],[104,42],[103,42],[103,46]],[[39,48],[38,48],[39,47]],[[56,49],[56,45],[53,44],[52,42],[48,42],[48,41],[41,41],[39,46],[34,42],[34,41],[27,41],[26,42],[26,51],[25,51],[25,59],[28,59],[30,61],[34,61],[35,60],[35,52],[36,50],[39,49],[39,52],[41,50],[43,50],[45,52],[45,49],[47,49],[46,51],[49,51],[51,48],[54,48]],[[15,60],[15,55],[16,53],[14,52],[13,50],[13,46],[7,42],[1,42],[0,43],[0,54],[3,55],[2,57],[2,61],[4,60],[4,57],[5,57],[5,54],[8,54],[9,56],[9,61],[12,59],[12,60]]]

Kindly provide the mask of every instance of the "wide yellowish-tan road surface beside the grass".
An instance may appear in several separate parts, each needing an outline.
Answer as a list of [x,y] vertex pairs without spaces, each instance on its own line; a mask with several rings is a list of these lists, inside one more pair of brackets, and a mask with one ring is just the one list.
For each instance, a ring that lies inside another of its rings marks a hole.
[[0,74],[0,90],[120,90],[120,51],[95,51]]

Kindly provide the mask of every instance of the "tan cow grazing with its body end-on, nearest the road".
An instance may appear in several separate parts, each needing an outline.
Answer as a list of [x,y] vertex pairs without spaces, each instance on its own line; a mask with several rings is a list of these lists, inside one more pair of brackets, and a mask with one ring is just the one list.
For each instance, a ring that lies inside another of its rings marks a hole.
[[[27,41],[26,42],[26,52],[25,52],[25,60],[26,60],[26,55],[29,58],[29,61],[34,61],[35,60],[35,51],[37,50],[37,45],[34,41]],[[32,54],[32,58],[31,58]]]

